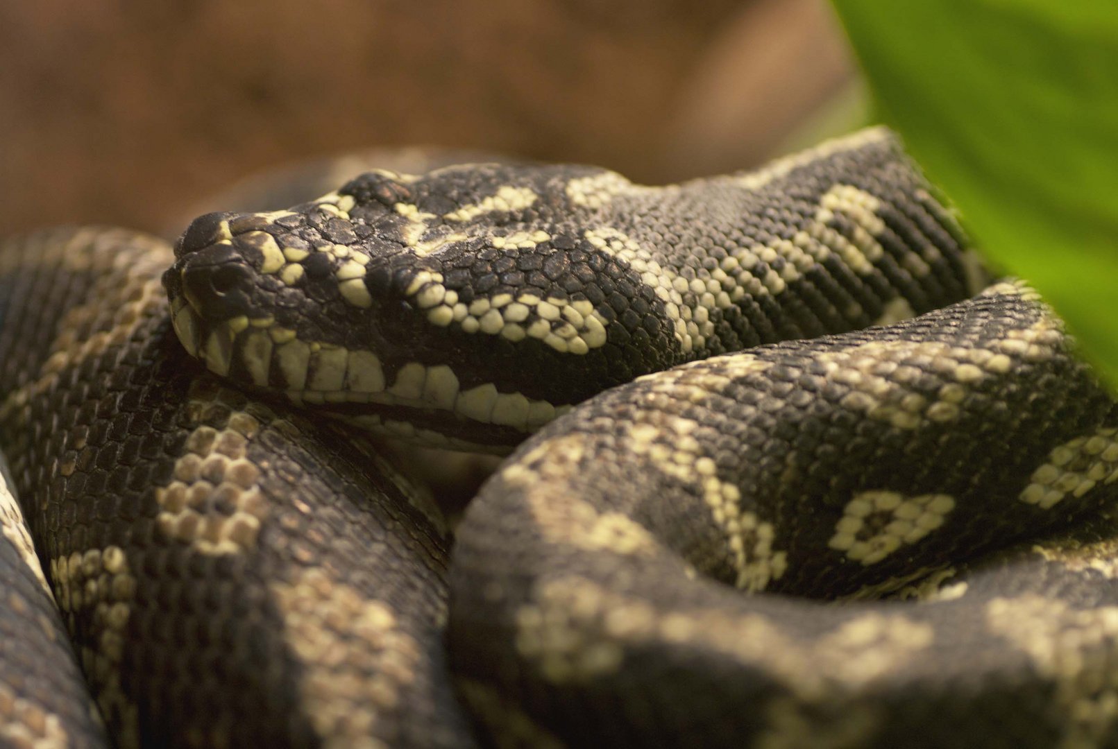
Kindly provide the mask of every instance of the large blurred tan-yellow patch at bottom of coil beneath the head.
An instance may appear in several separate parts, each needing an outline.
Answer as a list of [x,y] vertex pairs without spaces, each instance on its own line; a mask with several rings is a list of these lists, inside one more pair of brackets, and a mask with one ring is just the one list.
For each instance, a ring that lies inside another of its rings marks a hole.
[[[284,638],[302,664],[303,713],[323,747],[387,749],[381,721],[400,709],[421,664],[419,644],[392,608],[366,598],[324,568],[271,585]],[[391,724],[391,723],[390,723]]]

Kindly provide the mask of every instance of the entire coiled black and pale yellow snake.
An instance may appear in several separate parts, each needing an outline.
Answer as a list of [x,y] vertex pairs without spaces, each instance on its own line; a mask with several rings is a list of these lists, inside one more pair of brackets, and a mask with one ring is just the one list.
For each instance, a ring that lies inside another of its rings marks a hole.
[[1115,404],[883,129],[9,238],[0,398],[15,746],[1118,746]]

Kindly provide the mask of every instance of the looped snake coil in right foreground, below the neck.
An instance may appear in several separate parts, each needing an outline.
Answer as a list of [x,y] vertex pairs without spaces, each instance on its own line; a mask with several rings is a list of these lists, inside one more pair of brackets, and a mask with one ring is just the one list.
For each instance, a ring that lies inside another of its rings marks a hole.
[[[1112,746],[1118,408],[1034,300],[697,362],[546,427],[457,529],[463,695],[540,745]],[[805,599],[889,592],[920,603]]]

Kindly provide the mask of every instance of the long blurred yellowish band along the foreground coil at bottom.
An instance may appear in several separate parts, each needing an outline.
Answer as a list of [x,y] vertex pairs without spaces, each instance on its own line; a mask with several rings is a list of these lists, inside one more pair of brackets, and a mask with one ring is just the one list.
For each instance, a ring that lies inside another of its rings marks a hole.
[[633,645],[691,644],[754,664],[812,702],[858,693],[902,672],[934,634],[931,625],[874,613],[803,642],[764,615],[662,611],[593,580],[562,576],[538,584],[532,603],[518,609],[515,646],[548,681],[566,684],[616,672]]

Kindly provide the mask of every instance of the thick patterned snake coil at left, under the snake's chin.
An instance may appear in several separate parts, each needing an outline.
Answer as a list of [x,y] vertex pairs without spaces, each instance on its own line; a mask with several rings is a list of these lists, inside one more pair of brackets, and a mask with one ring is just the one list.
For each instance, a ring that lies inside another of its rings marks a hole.
[[429,497],[187,357],[171,259],[119,229],[0,247],[0,446],[115,741],[470,746]]

